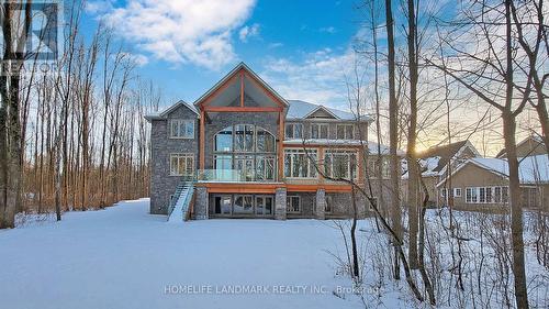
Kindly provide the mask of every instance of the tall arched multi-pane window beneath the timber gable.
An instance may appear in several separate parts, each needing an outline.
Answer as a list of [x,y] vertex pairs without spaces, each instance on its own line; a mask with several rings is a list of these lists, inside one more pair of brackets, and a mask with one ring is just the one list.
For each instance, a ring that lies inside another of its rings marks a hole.
[[236,169],[245,181],[273,181],[276,139],[254,124],[227,126],[214,136],[214,168]]

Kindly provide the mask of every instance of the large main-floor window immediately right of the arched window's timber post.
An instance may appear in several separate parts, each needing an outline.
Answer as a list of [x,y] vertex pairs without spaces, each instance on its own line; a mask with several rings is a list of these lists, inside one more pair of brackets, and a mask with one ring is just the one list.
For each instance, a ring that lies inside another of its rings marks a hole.
[[316,178],[316,150],[284,150],[284,176]]

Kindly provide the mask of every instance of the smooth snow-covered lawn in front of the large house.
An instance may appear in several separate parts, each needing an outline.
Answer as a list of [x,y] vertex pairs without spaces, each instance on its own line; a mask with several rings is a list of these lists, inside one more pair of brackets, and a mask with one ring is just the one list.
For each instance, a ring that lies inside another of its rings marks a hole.
[[1,307],[363,308],[333,294],[350,283],[327,253],[341,250],[329,221],[171,224],[147,210],[125,201],[0,231]]

